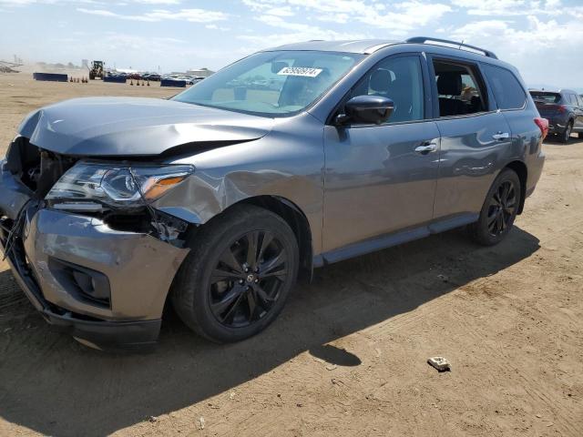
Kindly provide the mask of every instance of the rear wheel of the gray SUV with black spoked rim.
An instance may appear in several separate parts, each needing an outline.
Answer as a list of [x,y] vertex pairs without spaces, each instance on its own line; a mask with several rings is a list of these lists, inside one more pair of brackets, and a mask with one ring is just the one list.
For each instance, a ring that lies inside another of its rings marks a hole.
[[493,246],[506,238],[517,218],[522,190],[517,173],[503,169],[490,187],[476,223],[468,227],[478,244]]

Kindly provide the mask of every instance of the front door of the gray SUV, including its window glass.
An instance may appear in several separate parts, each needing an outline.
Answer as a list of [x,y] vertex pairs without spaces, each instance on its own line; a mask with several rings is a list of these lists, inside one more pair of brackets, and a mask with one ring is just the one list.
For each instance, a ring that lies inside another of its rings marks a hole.
[[439,131],[425,119],[422,62],[389,56],[354,86],[349,97],[394,100],[384,125],[325,127],[324,251],[432,219]]

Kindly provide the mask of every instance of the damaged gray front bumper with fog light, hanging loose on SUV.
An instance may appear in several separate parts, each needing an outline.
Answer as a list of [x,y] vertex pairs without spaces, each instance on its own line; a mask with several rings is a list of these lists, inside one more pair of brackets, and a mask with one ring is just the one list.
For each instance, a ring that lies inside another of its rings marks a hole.
[[2,246],[36,310],[98,349],[155,343],[171,282],[189,249],[46,208],[10,172],[0,172],[4,228],[22,220],[9,248],[2,230]]

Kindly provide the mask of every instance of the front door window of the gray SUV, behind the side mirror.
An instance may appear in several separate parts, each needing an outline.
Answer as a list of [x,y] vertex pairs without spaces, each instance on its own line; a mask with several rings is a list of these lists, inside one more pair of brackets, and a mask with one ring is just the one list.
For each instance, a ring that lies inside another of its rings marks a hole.
[[382,96],[394,101],[386,123],[422,120],[424,87],[418,56],[395,56],[381,61],[353,87],[350,97]]

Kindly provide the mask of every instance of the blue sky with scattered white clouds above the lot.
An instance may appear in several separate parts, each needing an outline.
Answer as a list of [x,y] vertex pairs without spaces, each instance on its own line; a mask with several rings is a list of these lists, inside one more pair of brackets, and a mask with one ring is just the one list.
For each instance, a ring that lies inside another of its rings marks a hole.
[[0,0],[0,59],[216,70],[310,39],[483,46],[528,86],[583,91],[583,0]]

